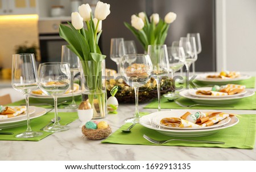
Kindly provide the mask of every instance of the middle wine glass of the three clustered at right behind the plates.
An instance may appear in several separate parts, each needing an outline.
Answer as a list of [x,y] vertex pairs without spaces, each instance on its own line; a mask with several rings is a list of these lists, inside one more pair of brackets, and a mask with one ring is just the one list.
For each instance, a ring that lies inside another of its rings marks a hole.
[[[185,52],[185,67],[187,72],[186,82],[189,79],[189,68],[193,62],[197,60],[197,51],[196,51],[196,40],[195,37],[181,37],[180,46],[183,47]],[[186,84],[186,89],[188,89],[188,83]]]

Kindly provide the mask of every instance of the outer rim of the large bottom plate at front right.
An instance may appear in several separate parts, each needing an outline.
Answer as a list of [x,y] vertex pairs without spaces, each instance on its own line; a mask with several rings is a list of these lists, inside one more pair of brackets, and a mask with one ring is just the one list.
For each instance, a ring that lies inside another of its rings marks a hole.
[[[180,111],[180,113],[185,113],[186,111],[185,110],[172,110],[172,111]],[[191,112],[196,112],[197,110],[189,110]],[[171,129],[163,129],[163,128],[156,128],[156,127],[153,127],[151,126],[150,124],[150,119],[152,117],[154,117],[155,114],[157,114],[159,112],[156,112],[156,113],[151,113],[151,114],[148,114],[148,115],[144,115],[143,117],[141,117],[139,119],[139,123],[144,126],[144,127],[147,127],[147,128],[150,128],[152,130],[156,130],[156,131],[162,131],[162,132],[170,132],[170,134],[172,132],[175,132],[175,133],[185,133],[185,134],[188,134],[188,133],[191,133],[191,132],[208,132],[208,131],[217,131],[217,130],[222,130],[224,128],[228,128],[228,127],[232,127],[234,125],[236,125],[238,122],[239,122],[239,119],[236,117],[236,116],[233,116],[231,118],[234,119],[234,122],[233,120],[231,120],[228,124],[225,124],[224,126],[221,126],[221,127],[216,127],[216,128],[210,128],[210,129],[203,129],[203,130],[171,130]],[[203,134],[202,134],[203,135]]]

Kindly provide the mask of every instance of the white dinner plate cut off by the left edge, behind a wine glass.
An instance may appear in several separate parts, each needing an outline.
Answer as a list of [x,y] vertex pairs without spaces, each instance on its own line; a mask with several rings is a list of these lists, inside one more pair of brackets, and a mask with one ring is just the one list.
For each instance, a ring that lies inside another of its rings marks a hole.
[[[42,115],[46,114],[46,109],[39,108],[36,106],[33,106],[35,108],[35,112],[30,115],[30,119],[41,117]],[[16,119],[14,121],[6,121],[6,122],[0,122],[0,128],[13,128],[13,127],[19,127],[27,124],[27,117],[26,115],[23,115],[22,118]]]

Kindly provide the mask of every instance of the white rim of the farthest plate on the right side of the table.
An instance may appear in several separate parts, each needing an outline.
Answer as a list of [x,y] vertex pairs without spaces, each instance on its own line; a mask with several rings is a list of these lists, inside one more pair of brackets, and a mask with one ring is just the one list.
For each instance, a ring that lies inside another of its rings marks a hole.
[[245,80],[245,79],[249,79],[251,78],[250,75],[248,74],[240,74],[240,77],[238,78],[225,78],[225,79],[221,79],[221,78],[207,78],[208,75],[219,75],[220,72],[209,72],[209,73],[204,73],[204,74],[198,74],[196,76],[196,80],[199,81],[213,81],[213,82],[224,82],[224,81],[240,81],[240,80]]

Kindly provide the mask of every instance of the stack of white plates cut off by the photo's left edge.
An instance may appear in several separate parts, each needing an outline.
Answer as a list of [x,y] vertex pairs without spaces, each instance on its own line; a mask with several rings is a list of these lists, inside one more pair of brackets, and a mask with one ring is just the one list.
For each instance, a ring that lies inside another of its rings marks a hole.
[[[10,106],[10,108],[13,108],[14,106]],[[39,108],[35,106],[30,106],[30,119],[41,117],[42,115],[46,114],[46,109]],[[27,115],[26,112],[11,118],[4,118],[0,119],[0,128],[13,128],[13,127],[19,127],[27,124]]]

